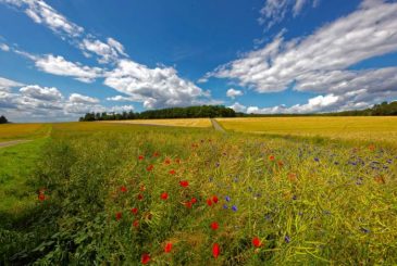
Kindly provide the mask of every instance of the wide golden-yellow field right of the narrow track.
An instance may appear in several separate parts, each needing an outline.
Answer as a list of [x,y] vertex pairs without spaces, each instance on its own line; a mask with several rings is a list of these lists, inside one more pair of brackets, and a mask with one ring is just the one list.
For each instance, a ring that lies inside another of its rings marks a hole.
[[397,143],[396,116],[218,118],[226,130]]

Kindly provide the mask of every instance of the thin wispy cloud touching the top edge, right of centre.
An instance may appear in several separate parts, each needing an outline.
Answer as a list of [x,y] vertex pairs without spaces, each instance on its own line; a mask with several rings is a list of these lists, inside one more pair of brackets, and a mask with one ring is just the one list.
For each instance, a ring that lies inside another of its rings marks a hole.
[[318,5],[318,0],[266,0],[260,10],[258,22],[265,25],[266,29],[281,23],[290,12],[294,16],[300,14],[305,5]]

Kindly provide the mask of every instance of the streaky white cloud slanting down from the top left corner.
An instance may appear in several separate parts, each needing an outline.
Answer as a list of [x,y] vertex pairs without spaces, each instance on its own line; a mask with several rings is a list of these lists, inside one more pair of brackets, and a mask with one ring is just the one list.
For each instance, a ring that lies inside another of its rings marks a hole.
[[67,21],[42,0],[0,0],[0,2],[22,9],[35,23],[44,24],[57,34],[77,37],[84,31],[82,27]]

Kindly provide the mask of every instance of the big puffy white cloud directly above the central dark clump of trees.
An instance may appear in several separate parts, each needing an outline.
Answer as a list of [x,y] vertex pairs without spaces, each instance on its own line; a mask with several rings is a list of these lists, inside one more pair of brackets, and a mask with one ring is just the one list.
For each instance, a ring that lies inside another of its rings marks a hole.
[[190,105],[209,98],[191,81],[178,77],[173,67],[149,68],[131,60],[121,60],[106,74],[104,84],[144,103],[147,109]]

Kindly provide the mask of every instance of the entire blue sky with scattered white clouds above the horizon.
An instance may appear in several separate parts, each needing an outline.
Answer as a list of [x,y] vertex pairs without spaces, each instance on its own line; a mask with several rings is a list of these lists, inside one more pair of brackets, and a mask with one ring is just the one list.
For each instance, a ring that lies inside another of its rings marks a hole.
[[0,114],[397,100],[396,0],[0,0]]

